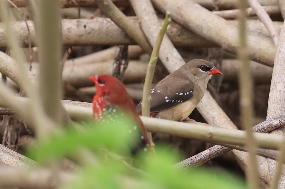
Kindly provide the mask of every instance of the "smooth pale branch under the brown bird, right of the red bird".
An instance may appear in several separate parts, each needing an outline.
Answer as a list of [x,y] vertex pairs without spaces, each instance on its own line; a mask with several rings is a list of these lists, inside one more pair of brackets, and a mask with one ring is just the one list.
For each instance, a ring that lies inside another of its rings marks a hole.
[[[153,133],[175,135],[201,141],[245,145],[246,131],[226,129],[199,122],[183,123],[142,117],[145,128]],[[272,136],[268,133],[254,133],[258,147],[276,150],[281,144],[282,136]]]

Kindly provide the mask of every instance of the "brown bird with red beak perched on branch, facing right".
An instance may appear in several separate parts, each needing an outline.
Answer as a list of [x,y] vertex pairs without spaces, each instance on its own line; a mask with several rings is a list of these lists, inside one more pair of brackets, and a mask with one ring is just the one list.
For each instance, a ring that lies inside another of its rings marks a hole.
[[[158,82],[150,93],[152,117],[183,121],[205,94],[213,74],[221,72],[209,61],[194,59]],[[141,114],[141,102],[136,108]]]

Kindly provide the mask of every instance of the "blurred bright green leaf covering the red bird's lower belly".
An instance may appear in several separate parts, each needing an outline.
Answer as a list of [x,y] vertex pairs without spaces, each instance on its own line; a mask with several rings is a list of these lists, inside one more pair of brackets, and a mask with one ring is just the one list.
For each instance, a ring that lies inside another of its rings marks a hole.
[[134,130],[135,123],[120,112],[116,122],[108,121],[108,118],[106,116],[107,121],[104,122],[90,121],[84,125],[83,131],[69,129],[63,135],[50,136],[48,142],[39,139],[38,145],[27,153],[27,157],[41,162],[76,153],[81,147],[95,151],[98,147],[117,152],[128,151],[139,139],[139,129]]

